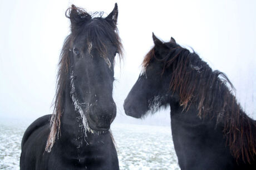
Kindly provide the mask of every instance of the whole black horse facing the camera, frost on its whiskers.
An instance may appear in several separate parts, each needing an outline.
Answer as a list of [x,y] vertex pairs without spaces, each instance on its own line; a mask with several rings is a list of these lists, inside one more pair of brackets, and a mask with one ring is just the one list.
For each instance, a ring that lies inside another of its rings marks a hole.
[[116,116],[114,60],[122,53],[117,15],[117,4],[106,18],[67,9],[71,33],[60,56],[54,112],[24,133],[21,169],[119,169],[109,131]]

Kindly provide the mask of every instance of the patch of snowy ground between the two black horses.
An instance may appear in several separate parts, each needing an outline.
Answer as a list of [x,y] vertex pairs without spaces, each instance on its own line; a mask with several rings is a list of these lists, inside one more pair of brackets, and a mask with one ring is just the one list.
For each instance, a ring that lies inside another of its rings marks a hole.
[[120,169],[179,169],[170,126],[114,124]]

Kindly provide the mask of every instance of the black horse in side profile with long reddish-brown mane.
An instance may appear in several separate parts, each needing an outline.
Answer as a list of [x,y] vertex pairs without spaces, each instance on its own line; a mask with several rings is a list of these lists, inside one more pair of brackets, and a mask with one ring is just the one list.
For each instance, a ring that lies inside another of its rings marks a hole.
[[181,169],[256,169],[256,121],[241,109],[227,76],[173,38],[153,39],[125,100],[126,115],[139,118],[170,106]]

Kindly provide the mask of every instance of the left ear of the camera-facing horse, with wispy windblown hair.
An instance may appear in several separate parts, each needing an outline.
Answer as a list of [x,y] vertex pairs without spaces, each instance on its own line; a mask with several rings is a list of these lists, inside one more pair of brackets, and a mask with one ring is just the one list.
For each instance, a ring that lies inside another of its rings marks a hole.
[[81,24],[91,19],[90,14],[72,4],[66,11],[66,17],[70,19],[71,30],[79,28]]

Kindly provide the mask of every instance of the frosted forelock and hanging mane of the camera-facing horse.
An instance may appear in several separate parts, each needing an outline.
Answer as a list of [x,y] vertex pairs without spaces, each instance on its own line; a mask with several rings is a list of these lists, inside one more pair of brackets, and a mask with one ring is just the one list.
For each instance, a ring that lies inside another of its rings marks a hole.
[[[74,12],[73,9],[76,9],[75,17],[72,15],[72,12]],[[92,16],[95,14],[97,13],[93,13]],[[66,83],[70,83],[68,74],[70,71],[70,50],[72,49],[73,40],[75,40],[75,38],[80,36],[80,33],[83,32],[83,36],[86,37],[85,44],[88,46],[93,45],[93,48],[99,51],[103,58],[106,58],[107,49],[101,39],[103,36],[109,39],[110,42],[117,47],[117,53],[119,53],[120,60],[123,54],[121,39],[119,37],[116,25],[115,28],[113,28],[113,25],[109,25],[105,18],[102,18],[102,13],[100,13],[100,17],[92,18],[91,15],[82,8],[77,8],[72,5],[71,8],[67,9],[66,17],[71,19],[71,33],[67,36],[65,42],[63,43],[60,61],[58,63],[56,95],[53,104],[53,114],[50,121],[50,134],[48,136],[45,148],[47,152],[51,151],[51,148],[55,143],[56,136],[58,138],[61,135],[61,115],[63,113]],[[79,27],[73,28],[73,24],[79,24]]]

